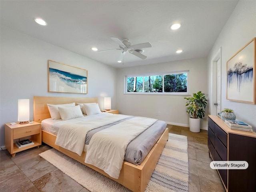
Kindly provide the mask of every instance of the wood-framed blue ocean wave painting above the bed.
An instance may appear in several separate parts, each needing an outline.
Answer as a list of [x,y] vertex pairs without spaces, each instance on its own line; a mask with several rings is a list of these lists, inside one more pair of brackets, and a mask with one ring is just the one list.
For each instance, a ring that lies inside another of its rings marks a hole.
[[87,93],[87,70],[48,60],[48,92]]

